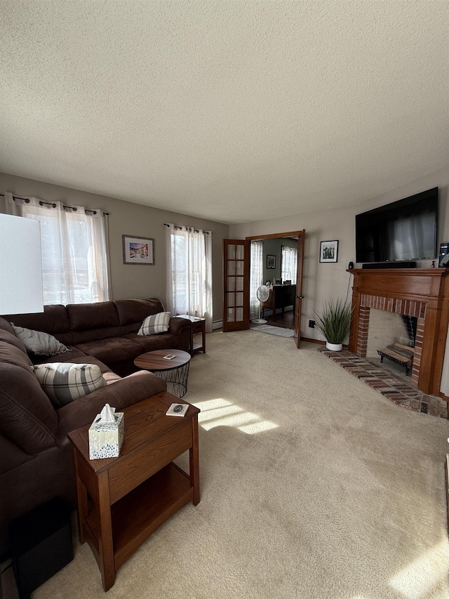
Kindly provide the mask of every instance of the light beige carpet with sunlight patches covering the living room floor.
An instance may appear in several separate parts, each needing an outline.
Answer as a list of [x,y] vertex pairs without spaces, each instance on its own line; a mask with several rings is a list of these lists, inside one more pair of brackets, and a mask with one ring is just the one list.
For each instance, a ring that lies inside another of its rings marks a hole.
[[[208,334],[185,399],[202,410],[201,502],[108,599],[448,598],[448,421],[396,407],[316,345],[252,331]],[[105,596],[87,544],[32,596]]]

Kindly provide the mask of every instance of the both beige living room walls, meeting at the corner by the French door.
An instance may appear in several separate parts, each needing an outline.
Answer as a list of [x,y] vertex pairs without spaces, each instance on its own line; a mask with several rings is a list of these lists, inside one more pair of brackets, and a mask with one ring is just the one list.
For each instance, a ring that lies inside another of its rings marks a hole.
[[[304,287],[302,302],[302,336],[321,339],[319,331],[307,327],[314,320],[314,309],[330,296],[351,295],[351,275],[346,272],[349,261],[355,260],[354,216],[382,204],[439,187],[438,244],[449,241],[449,165],[427,176],[402,185],[363,204],[320,212],[298,213],[293,216],[259,220],[239,225],[224,225],[210,220],[184,216],[169,211],[131,204],[119,199],[95,195],[68,187],[58,187],[13,175],[0,173],[0,192],[13,192],[48,200],[62,200],[88,208],[102,208],[110,213],[109,242],[111,249],[112,292],[114,299],[126,297],[166,298],[166,261],[163,223],[190,225],[213,231],[213,311],[214,320],[222,317],[222,239],[244,239],[255,235],[270,235],[306,230],[304,254]],[[0,198],[1,199],[1,198]],[[121,235],[153,237],[155,265],[123,265]],[[337,263],[319,263],[320,241],[339,240]],[[419,263],[421,267],[430,261]]]

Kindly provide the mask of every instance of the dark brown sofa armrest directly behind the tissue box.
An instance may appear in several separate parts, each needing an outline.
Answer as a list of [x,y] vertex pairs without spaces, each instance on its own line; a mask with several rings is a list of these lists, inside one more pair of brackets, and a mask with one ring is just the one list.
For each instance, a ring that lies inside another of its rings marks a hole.
[[151,372],[141,370],[89,393],[58,409],[58,442],[64,441],[67,433],[80,426],[91,424],[105,404],[121,412],[123,408],[161,393],[167,383]]

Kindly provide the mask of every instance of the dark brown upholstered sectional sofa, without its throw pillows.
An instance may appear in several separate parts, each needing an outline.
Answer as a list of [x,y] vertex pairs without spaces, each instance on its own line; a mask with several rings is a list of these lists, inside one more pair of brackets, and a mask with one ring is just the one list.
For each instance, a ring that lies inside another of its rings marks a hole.
[[[166,333],[138,336],[148,315],[163,312],[156,298],[46,306],[39,314],[0,317],[0,556],[8,554],[8,524],[55,496],[75,504],[71,430],[91,423],[105,403],[117,412],[166,390],[166,383],[133,360],[156,349],[189,350],[192,323],[170,319]],[[44,331],[70,351],[29,355],[18,327]],[[107,386],[55,409],[32,364],[98,364]],[[124,377],[124,378],[122,378]]]

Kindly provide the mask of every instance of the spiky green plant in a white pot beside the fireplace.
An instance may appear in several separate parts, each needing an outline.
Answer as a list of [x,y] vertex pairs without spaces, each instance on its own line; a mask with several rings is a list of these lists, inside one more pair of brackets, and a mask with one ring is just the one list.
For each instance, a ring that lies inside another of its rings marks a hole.
[[351,324],[351,306],[342,299],[329,300],[320,312],[315,312],[316,328],[326,338],[326,348],[339,352],[343,341],[349,335]]

